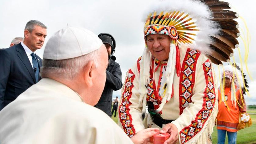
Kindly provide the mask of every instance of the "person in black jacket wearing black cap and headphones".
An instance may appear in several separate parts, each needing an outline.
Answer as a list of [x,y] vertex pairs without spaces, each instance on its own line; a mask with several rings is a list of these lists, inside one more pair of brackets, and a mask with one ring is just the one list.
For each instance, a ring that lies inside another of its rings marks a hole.
[[104,111],[109,117],[111,117],[113,90],[119,90],[122,88],[122,72],[120,65],[115,61],[116,57],[113,56],[116,48],[116,41],[114,37],[108,33],[100,33],[98,37],[102,40],[108,51],[108,67],[106,69],[106,84],[101,98],[95,107]]

